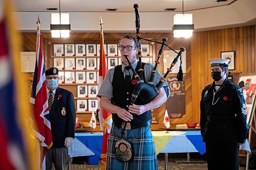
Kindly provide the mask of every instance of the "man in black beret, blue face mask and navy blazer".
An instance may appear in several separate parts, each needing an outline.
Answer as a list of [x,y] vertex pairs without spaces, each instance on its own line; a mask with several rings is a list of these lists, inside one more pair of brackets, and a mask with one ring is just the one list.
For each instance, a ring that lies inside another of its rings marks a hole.
[[75,137],[75,103],[72,92],[58,87],[58,68],[45,72],[47,80],[48,107],[52,131],[52,147],[46,149],[46,170],[64,170],[68,159],[68,147]]

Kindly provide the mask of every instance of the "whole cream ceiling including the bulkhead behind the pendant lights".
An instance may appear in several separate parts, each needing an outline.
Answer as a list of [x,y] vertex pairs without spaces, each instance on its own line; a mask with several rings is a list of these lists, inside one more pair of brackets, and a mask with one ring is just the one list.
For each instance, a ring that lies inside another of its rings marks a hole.
[[[34,31],[40,16],[41,31],[50,31],[51,13],[59,12],[59,0],[13,1],[19,15],[19,30]],[[195,31],[256,25],[256,0],[216,1],[183,0],[184,13],[193,14]],[[60,0],[60,7],[61,12],[70,14],[72,32],[98,32],[100,17],[105,31],[130,32],[135,28],[133,5],[136,3],[139,5],[140,28],[144,32],[172,32],[173,17],[182,12],[182,0]],[[176,10],[165,11],[166,8]]]

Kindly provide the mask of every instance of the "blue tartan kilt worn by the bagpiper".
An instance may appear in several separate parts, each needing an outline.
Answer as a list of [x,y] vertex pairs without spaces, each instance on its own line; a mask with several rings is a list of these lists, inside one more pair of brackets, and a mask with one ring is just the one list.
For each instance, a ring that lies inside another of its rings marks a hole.
[[[148,130],[149,129],[149,130]],[[145,134],[139,136],[148,130]],[[150,126],[138,129],[125,130],[125,139],[134,139],[131,143],[133,148],[133,157],[127,162],[117,159],[115,155],[115,144],[121,139],[121,128],[117,128],[112,124],[112,129],[108,139],[108,154],[106,169],[108,170],[158,170],[157,155],[155,149],[154,138]],[[115,134],[116,135],[115,135]],[[118,138],[116,137],[118,136]]]

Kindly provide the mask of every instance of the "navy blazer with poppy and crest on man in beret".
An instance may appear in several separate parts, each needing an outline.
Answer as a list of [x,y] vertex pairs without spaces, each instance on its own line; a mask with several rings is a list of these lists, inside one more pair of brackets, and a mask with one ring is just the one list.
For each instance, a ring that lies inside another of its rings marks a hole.
[[72,92],[58,87],[50,111],[52,148],[64,148],[66,137],[75,138],[75,119],[76,110]]

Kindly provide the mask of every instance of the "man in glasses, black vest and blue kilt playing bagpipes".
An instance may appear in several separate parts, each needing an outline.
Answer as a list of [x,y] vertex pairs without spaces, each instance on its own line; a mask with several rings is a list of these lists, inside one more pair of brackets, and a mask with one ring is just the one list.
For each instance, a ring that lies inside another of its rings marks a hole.
[[[131,105],[134,87],[137,85],[133,70],[138,72],[141,69],[137,61],[138,47],[137,38],[131,35],[121,38],[118,48],[122,64],[108,71],[99,89],[100,107],[111,112],[113,117],[106,169],[158,169],[150,129],[151,110],[166,102],[169,88],[165,81],[151,102],[143,104],[140,98],[137,98],[136,104]],[[151,63],[142,63],[142,68],[143,81],[147,83],[154,66]],[[156,69],[153,85],[156,86],[161,78]]]

